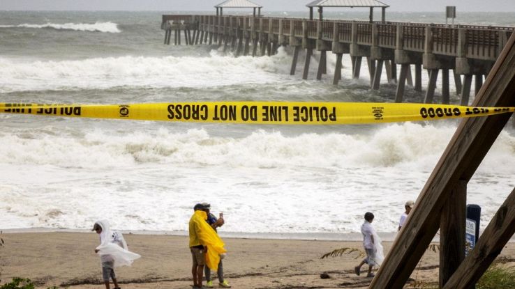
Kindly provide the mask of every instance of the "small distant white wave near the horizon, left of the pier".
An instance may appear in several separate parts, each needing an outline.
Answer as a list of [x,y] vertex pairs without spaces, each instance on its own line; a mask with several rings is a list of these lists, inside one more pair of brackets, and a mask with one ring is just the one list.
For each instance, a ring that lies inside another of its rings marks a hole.
[[120,33],[118,24],[112,22],[96,22],[94,24],[87,23],[47,23],[47,24],[18,24],[18,25],[0,25],[0,28],[33,28],[33,29],[57,29],[57,30],[74,30],[74,31],[95,31],[105,33]]

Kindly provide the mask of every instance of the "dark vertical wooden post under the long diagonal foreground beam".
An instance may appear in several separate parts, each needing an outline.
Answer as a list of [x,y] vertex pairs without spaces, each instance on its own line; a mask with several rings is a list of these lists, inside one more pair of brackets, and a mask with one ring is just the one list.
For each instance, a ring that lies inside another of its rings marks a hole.
[[440,215],[440,288],[465,258],[465,215],[467,182],[458,180],[451,189]]

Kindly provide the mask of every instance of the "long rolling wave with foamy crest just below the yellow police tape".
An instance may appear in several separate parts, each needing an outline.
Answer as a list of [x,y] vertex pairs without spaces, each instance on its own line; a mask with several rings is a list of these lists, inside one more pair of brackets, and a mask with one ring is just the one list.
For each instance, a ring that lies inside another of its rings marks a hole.
[[[178,166],[276,167],[394,167],[430,171],[447,146],[455,127],[401,123],[385,125],[371,134],[303,133],[256,130],[233,138],[211,136],[206,130],[172,132],[155,130],[45,130],[1,132],[6,164],[77,166]],[[79,136],[77,136],[79,134]],[[503,132],[482,166],[496,171],[515,162],[515,136]],[[322,153],[323,152],[323,153]]]

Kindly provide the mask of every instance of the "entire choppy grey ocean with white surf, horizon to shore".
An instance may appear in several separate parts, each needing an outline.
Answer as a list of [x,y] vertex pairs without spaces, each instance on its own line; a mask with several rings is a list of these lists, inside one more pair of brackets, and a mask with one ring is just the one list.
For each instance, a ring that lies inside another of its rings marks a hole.
[[[331,54],[328,75],[313,80],[315,56],[304,81],[300,64],[289,75],[288,49],[234,58],[213,46],[163,45],[161,14],[0,11],[0,102],[394,99],[386,79],[369,89],[366,65],[352,80],[348,57],[332,86]],[[456,22],[512,26],[515,13],[461,15]],[[437,13],[389,19],[445,21]],[[184,231],[193,205],[207,201],[229,232],[355,233],[371,211],[378,231],[393,233],[457,123],[283,127],[0,114],[0,228],[84,229],[107,218],[120,229]],[[509,125],[468,186],[482,226],[515,186],[514,163]]]

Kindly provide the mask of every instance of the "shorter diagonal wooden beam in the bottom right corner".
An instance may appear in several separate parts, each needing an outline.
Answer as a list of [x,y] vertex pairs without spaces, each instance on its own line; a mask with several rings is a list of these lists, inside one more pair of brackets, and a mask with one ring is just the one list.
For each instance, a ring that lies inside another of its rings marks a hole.
[[515,189],[509,194],[444,289],[471,288],[515,233]]

